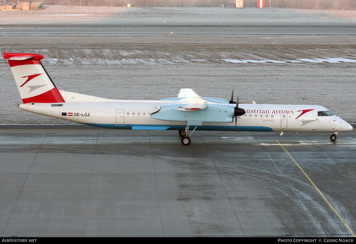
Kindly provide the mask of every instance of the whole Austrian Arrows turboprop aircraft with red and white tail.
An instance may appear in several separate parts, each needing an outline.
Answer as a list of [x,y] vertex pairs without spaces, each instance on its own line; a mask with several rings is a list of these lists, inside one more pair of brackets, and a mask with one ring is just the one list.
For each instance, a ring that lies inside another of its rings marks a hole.
[[[19,108],[91,126],[133,130],[177,130],[183,145],[199,131],[331,132],[331,140],[352,126],[315,105],[239,104],[180,89],[161,100],[112,100],[58,90],[35,53],[4,53],[23,104]],[[193,127],[189,134],[189,128]],[[189,134],[189,135],[188,135]]]

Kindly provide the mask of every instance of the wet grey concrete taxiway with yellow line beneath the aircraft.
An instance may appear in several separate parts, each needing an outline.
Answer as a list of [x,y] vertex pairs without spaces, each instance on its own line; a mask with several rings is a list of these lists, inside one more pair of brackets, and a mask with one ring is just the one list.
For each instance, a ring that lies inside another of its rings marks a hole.
[[355,237],[355,131],[62,127],[1,127],[1,236]]

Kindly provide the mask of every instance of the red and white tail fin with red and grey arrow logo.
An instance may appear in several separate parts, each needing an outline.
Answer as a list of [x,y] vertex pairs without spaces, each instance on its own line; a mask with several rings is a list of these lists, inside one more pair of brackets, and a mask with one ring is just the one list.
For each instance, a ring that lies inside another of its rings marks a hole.
[[43,68],[43,55],[36,53],[4,53],[24,104],[29,102],[65,102],[56,85]]

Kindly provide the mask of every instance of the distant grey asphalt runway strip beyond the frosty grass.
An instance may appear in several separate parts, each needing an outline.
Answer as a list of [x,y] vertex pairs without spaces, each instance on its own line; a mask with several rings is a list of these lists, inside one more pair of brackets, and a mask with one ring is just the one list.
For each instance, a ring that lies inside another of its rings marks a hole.
[[356,35],[354,25],[226,25],[153,24],[121,25],[0,25],[0,34],[250,34],[250,35]]

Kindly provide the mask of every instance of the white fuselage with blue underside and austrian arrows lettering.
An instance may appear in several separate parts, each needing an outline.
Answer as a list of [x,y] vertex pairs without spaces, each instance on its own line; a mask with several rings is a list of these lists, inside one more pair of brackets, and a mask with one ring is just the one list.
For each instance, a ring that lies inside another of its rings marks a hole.
[[[151,117],[151,114],[157,112],[162,104],[167,104],[167,101],[110,101],[108,99],[108,101],[72,101],[57,104],[29,103],[21,104],[19,107],[62,120],[105,128],[183,130],[187,122],[157,120]],[[236,105],[229,106],[235,107]],[[335,115],[318,116],[319,111],[328,111],[321,106],[242,104],[239,107],[243,108],[246,113],[238,117],[236,126],[235,121],[231,123],[203,122],[197,130],[337,133],[352,129],[349,123]]]

